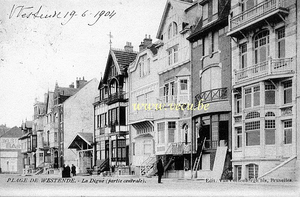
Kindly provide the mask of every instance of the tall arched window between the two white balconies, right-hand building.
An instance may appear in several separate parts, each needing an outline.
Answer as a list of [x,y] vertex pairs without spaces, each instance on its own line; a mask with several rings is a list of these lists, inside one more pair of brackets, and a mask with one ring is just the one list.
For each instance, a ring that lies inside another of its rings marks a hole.
[[255,64],[266,61],[269,55],[269,31],[263,30],[254,37]]

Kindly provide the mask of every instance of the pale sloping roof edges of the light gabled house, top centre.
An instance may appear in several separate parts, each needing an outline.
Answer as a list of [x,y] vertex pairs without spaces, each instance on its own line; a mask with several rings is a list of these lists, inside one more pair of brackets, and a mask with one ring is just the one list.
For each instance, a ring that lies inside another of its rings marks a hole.
[[190,2],[185,2],[185,1],[181,1],[181,0],[167,0],[165,7],[164,7],[164,11],[160,20],[160,24],[158,27],[158,32],[156,35],[157,39],[160,39],[160,35],[162,33],[162,29],[167,17],[167,13],[169,11],[170,6],[173,7],[173,9],[176,11],[176,13],[178,14],[179,18],[181,19],[181,22],[185,22],[188,23],[188,19],[185,13],[185,9],[187,9],[188,7],[190,7],[193,3]]

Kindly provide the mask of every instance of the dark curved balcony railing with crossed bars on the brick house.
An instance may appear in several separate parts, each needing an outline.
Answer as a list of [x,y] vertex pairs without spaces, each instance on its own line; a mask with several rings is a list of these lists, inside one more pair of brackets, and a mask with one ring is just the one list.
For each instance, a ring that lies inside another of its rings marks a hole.
[[[202,100],[201,100],[202,99]],[[227,88],[217,88],[201,92],[195,96],[195,105],[199,103],[227,99]]]

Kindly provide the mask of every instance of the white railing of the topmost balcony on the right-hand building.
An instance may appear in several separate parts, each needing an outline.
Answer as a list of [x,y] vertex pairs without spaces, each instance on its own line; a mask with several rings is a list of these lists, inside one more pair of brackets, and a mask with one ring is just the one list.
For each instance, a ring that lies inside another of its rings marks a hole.
[[229,15],[229,31],[244,24],[249,24],[257,18],[263,19],[262,16],[267,15],[275,9],[284,8],[284,6],[285,0],[264,0],[233,17]]

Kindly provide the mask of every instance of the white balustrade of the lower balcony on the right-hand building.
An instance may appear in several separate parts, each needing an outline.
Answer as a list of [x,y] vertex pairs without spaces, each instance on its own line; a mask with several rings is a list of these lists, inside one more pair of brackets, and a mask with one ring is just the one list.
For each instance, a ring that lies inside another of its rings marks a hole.
[[235,71],[235,84],[292,70],[292,58],[268,59]]

